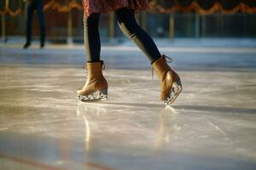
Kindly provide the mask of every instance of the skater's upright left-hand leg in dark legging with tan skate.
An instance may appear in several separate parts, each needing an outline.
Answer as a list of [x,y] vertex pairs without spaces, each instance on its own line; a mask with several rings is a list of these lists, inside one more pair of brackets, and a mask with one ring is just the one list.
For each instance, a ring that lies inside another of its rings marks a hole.
[[103,61],[100,60],[101,40],[99,34],[100,14],[84,16],[84,46],[87,54],[87,80],[77,91],[80,101],[108,99],[108,82],[103,77]]

